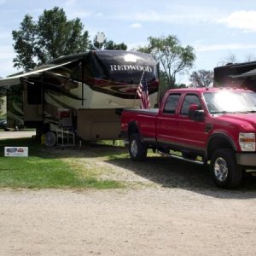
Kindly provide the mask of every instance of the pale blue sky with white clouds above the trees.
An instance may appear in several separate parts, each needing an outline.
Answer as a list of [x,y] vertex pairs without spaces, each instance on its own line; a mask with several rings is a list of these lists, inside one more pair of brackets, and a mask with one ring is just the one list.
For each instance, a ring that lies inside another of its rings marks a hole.
[[[38,20],[44,9],[63,8],[79,17],[91,39],[104,32],[128,49],[148,44],[149,36],[176,35],[195,49],[195,67],[213,70],[230,55],[237,62],[256,60],[256,5],[251,0],[0,0],[0,77],[16,73],[11,32],[26,14]],[[187,82],[189,74],[177,82]]]

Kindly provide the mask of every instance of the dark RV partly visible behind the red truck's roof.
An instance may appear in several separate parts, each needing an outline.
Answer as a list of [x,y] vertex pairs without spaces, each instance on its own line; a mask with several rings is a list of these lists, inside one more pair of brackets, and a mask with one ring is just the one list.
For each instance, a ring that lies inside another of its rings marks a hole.
[[213,87],[223,86],[256,91],[256,61],[215,67]]

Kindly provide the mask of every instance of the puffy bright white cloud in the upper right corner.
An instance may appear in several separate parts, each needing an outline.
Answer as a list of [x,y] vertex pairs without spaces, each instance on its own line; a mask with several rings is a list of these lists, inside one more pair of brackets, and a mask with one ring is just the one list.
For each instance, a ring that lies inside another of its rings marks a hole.
[[256,32],[256,11],[236,11],[218,22],[228,27],[240,28],[245,32]]

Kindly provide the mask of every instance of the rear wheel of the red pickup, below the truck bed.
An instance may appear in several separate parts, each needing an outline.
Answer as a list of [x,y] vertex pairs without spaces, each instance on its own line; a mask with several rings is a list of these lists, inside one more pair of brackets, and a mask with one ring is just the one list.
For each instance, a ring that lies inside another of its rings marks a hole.
[[139,134],[132,134],[129,139],[129,154],[131,160],[143,161],[147,157],[147,147],[141,142]]

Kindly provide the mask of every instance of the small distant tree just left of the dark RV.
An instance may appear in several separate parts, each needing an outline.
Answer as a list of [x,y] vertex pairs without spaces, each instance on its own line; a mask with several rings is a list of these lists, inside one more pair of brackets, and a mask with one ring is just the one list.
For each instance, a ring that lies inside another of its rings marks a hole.
[[213,71],[204,69],[194,71],[190,75],[189,81],[193,87],[208,87],[213,82]]

